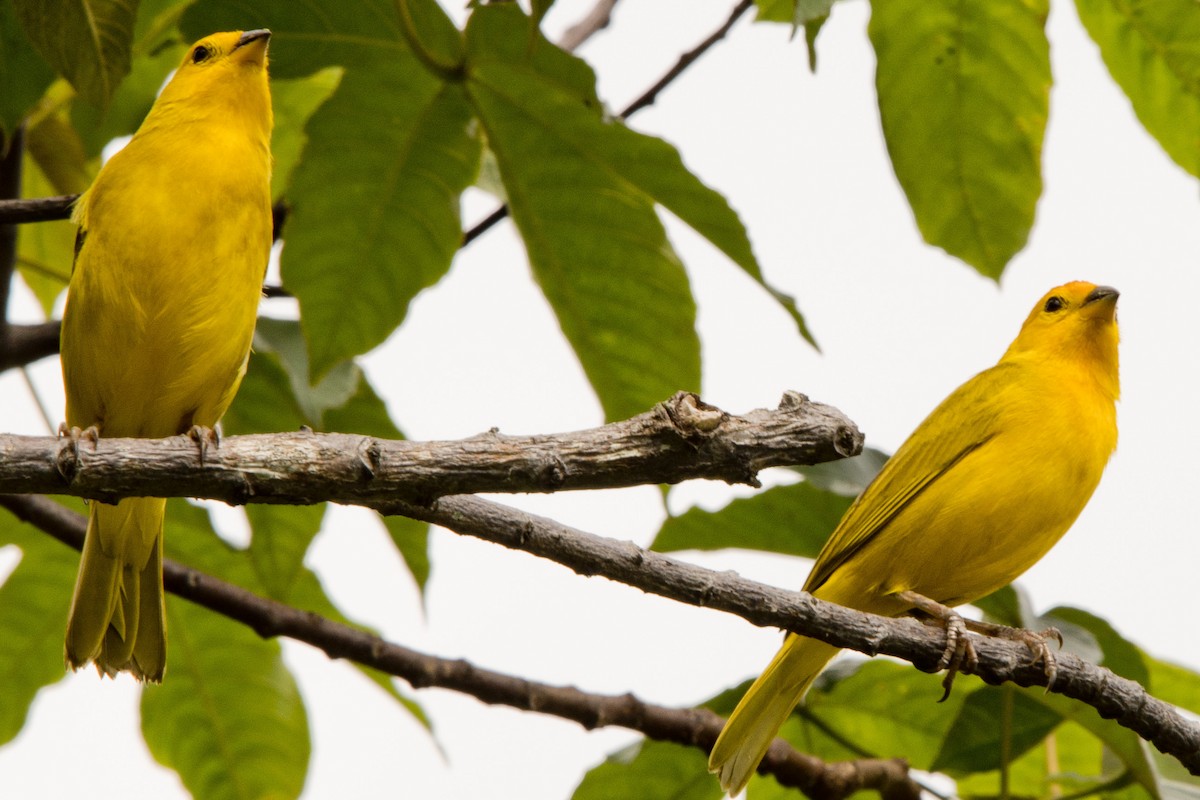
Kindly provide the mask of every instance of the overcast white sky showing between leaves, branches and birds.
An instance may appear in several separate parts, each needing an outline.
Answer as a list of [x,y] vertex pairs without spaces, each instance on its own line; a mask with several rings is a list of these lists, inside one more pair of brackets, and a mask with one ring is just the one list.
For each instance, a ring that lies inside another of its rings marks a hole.
[[[451,5],[461,13],[462,4]],[[599,72],[601,96],[622,107],[732,5],[620,4],[614,25],[581,52]],[[588,7],[589,0],[559,0],[547,29],[560,30]],[[1075,528],[1021,585],[1038,609],[1084,607],[1153,655],[1200,667],[1200,640],[1180,636],[1175,622],[1195,613],[1200,563],[1195,180],[1141,130],[1073,5],[1054,4],[1045,194],[1028,247],[997,288],[919,239],[880,133],[866,19],[863,0],[838,5],[821,35],[815,77],[803,43],[790,43],[786,28],[744,20],[632,121],[676,144],[691,169],[730,199],[769,279],[798,297],[823,348],[817,354],[800,342],[761,290],[668,221],[700,303],[704,398],[737,413],[799,390],[845,410],[870,445],[890,451],[954,386],[995,362],[1046,289],[1075,278],[1117,287],[1121,444]],[[468,204],[470,216],[492,207],[476,200]],[[14,317],[37,319],[28,297],[18,295],[16,305]],[[403,330],[366,365],[414,438],[601,421],[509,223],[461,254],[449,278],[418,299]],[[58,362],[34,374],[61,414]],[[0,408],[6,431],[46,431],[13,375],[0,379]],[[690,485],[673,493],[672,507],[715,507],[732,494],[722,485]],[[509,501],[646,543],[661,521],[658,497],[644,488]],[[756,674],[779,643],[775,631],[522,553],[445,531],[432,542],[425,618],[414,587],[364,513],[329,515],[310,564],[348,614],[389,639],[655,703],[691,704]],[[784,557],[688,557],[791,588],[808,571]],[[559,799],[586,769],[635,739],[424,691],[415,697],[434,720],[443,759],[424,730],[353,669],[304,645],[288,643],[286,654],[313,730],[307,798]],[[938,679],[929,680],[934,686]],[[91,672],[43,691],[22,735],[0,748],[0,776],[11,796],[185,796],[142,744],[132,681],[101,681]]]

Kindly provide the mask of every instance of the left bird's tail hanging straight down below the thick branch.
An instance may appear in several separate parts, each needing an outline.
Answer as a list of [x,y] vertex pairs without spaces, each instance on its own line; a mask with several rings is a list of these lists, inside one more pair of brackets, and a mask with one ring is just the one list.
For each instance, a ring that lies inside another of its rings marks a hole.
[[167,501],[92,503],[67,618],[66,662],[160,682],[167,663],[162,518]]

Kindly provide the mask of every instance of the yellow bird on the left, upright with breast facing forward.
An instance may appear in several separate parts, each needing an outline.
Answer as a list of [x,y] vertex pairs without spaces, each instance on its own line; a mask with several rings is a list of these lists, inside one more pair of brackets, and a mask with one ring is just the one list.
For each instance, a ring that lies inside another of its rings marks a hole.
[[[188,49],[130,143],[76,204],[62,315],[67,425],[79,435],[211,428],[246,371],[271,249],[268,30]],[[92,503],[66,662],[161,681],[166,500]]]

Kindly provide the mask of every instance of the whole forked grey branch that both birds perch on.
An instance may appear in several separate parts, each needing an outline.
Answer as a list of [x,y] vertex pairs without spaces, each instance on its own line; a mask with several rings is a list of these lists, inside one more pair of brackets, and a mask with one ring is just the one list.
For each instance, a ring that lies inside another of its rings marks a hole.
[[[942,654],[943,633],[914,620],[840,608],[462,494],[694,477],[755,483],[763,467],[836,458],[857,452],[860,445],[862,434],[840,413],[796,392],[787,392],[775,410],[743,416],[680,392],[646,414],[589,431],[538,437],[492,432],[450,443],[301,432],[230,437],[205,450],[186,437],[80,437],[72,441],[6,435],[0,437],[0,493],[354,503],[526,551],[584,576],[604,576],[679,602],[737,614],[755,625],[896,656],[932,670]],[[20,498],[0,500],[13,507]],[[977,650],[974,672],[988,682],[1046,682],[1042,666],[1031,663],[1021,644],[982,639]],[[1200,724],[1108,669],[1069,654],[1057,661],[1052,691],[1092,705],[1200,774]]]

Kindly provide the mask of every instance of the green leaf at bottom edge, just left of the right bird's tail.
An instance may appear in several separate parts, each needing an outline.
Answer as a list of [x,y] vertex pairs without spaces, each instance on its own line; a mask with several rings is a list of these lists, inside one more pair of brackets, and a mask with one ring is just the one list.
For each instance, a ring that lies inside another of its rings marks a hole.
[[695,747],[644,740],[588,770],[572,800],[718,800],[720,786],[708,774],[708,759]]

